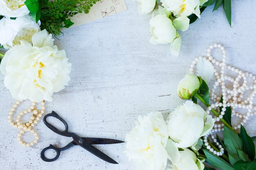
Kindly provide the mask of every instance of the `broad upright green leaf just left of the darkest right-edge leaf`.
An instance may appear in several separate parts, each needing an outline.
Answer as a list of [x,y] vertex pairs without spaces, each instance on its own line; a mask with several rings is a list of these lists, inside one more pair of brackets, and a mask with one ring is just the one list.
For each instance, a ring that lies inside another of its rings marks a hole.
[[224,127],[224,144],[228,153],[238,154],[236,150],[243,150],[243,141],[233,130],[226,126]]

